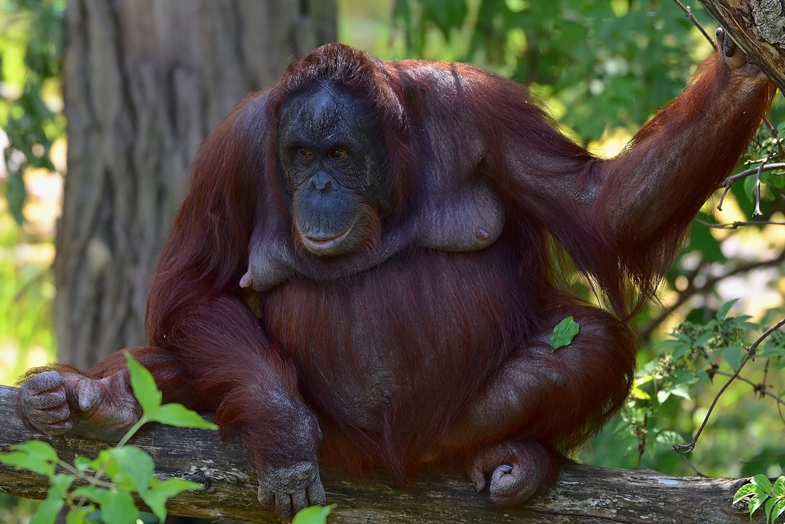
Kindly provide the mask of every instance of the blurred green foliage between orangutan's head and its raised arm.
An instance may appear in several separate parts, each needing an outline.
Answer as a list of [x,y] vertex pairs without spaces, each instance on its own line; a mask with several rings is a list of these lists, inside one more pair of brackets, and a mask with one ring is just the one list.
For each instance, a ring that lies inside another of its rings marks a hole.
[[[697,2],[693,10],[713,27]],[[564,123],[583,141],[605,126],[644,123],[684,88],[695,63],[685,49],[707,46],[677,5],[649,0],[480,0],[474,20],[465,0],[396,0],[393,20],[415,56],[425,51],[429,26],[447,39],[473,23],[462,61],[499,68],[557,97]]]

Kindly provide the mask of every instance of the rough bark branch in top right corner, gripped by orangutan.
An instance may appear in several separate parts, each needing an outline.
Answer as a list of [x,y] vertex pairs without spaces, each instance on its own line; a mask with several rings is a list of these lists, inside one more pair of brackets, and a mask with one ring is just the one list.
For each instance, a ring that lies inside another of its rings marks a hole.
[[699,0],[747,59],[785,87],[785,0]]

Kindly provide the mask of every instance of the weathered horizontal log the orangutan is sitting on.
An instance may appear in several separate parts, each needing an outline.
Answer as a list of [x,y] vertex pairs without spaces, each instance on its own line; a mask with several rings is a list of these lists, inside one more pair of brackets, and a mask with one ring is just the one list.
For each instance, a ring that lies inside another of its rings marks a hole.
[[[0,452],[11,445],[39,439],[53,445],[60,458],[95,457],[108,443],[68,435],[49,437],[28,430],[16,416],[18,390],[0,386]],[[268,524],[281,522],[257,501],[254,473],[238,442],[221,442],[217,431],[149,424],[130,442],[155,460],[160,479],[181,477],[206,485],[204,491],[181,493],[170,500],[170,515],[234,519]],[[388,478],[357,480],[322,471],[327,500],[338,504],[329,522],[536,522],[552,524],[648,524],[750,522],[743,503],[731,505],[744,479],[671,477],[657,471],[627,471],[596,466],[562,467],[556,486],[523,508],[487,508],[487,490],[476,493],[460,472],[424,475],[406,489]],[[0,491],[33,499],[46,497],[42,475],[0,464]],[[137,500],[137,502],[140,502]],[[144,504],[140,507],[144,508]],[[759,511],[762,513],[762,511]],[[759,515],[756,515],[759,516]],[[757,522],[759,519],[755,519]]]

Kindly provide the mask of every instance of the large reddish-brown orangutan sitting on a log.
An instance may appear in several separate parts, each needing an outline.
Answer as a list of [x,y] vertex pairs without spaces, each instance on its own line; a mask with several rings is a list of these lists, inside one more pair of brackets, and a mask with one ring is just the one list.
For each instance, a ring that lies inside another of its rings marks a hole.
[[[282,516],[325,503],[318,464],[400,482],[462,464],[498,506],[547,489],[630,389],[630,296],[652,295],[769,108],[718,37],[613,159],[509,79],[316,49],[202,145],[131,354],[164,401],[242,434]],[[554,245],[612,312],[559,288]],[[552,352],[568,316],[580,332]],[[20,409],[107,440],[140,416],[122,354],[35,370]]]

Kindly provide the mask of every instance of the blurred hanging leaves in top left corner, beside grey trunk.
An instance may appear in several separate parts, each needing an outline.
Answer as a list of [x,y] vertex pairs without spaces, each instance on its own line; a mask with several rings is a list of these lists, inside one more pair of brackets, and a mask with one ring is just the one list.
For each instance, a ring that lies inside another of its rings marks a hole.
[[59,90],[64,9],[64,0],[0,0],[0,126],[11,145],[5,150],[6,199],[19,223],[24,166],[54,170],[49,151],[64,134],[60,108],[47,104],[47,91]]

